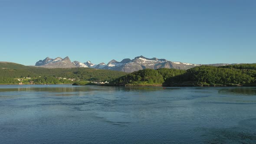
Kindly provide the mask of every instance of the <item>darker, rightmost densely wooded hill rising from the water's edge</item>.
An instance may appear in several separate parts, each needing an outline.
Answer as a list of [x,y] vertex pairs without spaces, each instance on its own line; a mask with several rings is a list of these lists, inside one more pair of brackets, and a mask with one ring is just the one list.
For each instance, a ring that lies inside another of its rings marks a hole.
[[[236,65],[240,68],[239,65]],[[256,70],[199,66],[188,69],[183,75],[167,79],[168,86],[233,86],[255,85]]]

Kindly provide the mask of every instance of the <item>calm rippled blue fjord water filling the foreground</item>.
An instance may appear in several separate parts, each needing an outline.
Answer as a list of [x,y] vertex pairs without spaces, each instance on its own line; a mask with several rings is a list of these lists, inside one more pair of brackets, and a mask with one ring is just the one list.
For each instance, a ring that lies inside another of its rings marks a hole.
[[256,143],[255,87],[0,85],[0,143]]

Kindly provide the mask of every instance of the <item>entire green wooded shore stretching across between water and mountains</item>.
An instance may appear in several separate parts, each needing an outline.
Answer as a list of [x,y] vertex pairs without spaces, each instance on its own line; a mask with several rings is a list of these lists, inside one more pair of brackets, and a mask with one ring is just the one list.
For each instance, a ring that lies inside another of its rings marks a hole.
[[130,74],[91,68],[46,69],[0,62],[0,84],[110,82],[113,86],[256,86],[256,64],[197,66],[188,70],[143,69]]

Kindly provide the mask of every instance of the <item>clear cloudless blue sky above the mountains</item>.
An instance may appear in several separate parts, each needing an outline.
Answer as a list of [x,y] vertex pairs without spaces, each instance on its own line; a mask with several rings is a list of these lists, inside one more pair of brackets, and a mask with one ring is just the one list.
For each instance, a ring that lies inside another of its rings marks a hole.
[[0,0],[0,61],[256,62],[256,0]]

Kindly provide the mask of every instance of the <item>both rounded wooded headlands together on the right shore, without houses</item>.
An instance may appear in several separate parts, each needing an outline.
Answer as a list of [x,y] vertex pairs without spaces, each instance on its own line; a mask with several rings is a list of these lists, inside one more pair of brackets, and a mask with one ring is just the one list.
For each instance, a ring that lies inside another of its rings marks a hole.
[[255,64],[202,65],[191,69],[144,69],[114,79],[109,85],[233,86],[256,85]]

